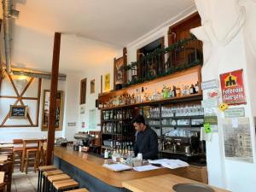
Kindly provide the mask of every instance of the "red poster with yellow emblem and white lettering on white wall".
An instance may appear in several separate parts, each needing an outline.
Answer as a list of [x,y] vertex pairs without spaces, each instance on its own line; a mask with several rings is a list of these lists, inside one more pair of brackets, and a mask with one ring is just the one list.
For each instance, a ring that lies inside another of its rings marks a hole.
[[223,102],[229,105],[245,104],[242,69],[220,75]]

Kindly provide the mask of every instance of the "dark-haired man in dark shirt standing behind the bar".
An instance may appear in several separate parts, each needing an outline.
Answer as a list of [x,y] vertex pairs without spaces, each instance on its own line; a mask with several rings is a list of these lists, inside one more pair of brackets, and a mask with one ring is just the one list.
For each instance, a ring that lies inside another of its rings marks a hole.
[[138,115],[132,120],[137,131],[134,147],[135,155],[143,154],[144,160],[155,160],[158,154],[158,140],[156,133],[145,125],[143,115]]

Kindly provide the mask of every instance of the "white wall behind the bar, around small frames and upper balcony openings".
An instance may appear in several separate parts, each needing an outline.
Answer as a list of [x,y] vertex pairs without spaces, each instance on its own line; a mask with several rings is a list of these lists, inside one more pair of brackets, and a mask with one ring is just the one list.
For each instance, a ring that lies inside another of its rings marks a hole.
[[[176,23],[179,20],[183,20],[183,18],[187,17],[188,15],[191,15],[192,13],[195,13],[196,9],[195,7],[192,7],[190,9],[184,10],[179,15],[175,16],[174,18],[171,18],[166,23],[156,27],[153,31],[148,32],[143,37],[137,38],[134,42],[131,42],[131,44],[127,44],[127,62],[128,64],[131,63],[131,61],[137,61],[137,49],[142,48],[144,45],[149,44],[153,42],[154,40],[158,38],[165,37],[165,45],[168,46],[168,28],[169,26],[172,26],[172,24]],[[98,93],[100,93],[100,85],[101,85],[101,75],[103,75],[103,86],[104,86],[104,75],[107,73],[110,73],[110,89],[113,89],[113,58],[119,58],[123,55],[122,49],[116,49],[115,52],[113,52],[112,57],[109,57],[108,60],[99,63],[99,65],[94,65],[91,67],[86,67],[86,71],[84,73],[84,78],[87,78],[87,95],[86,95],[86,104],[85,107],[85,113],[79,115],[79,131],[88,131],[88,130],[94,130],[93,128],[90,129],[88,127],[89,125],[89,111],[91,109],[95,108],[95,100],[98,98]],[[90,80],[96,79],[96,93],[90,94]],[[103,87],[104,90],[104,87]],[[85,127],[81,127],[81,123],[85,122]],[[96,109],[96,124],[100,123],[100,111]],[[100,130],[100,126],[96,127],[96,130]]]

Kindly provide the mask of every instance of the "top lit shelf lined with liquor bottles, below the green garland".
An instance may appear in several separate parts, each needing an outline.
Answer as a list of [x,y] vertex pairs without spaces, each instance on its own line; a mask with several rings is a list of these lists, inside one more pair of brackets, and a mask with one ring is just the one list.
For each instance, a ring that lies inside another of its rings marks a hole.
[[99,108],[123,108],[201,96],[201,67],[150,83],[100,95]]

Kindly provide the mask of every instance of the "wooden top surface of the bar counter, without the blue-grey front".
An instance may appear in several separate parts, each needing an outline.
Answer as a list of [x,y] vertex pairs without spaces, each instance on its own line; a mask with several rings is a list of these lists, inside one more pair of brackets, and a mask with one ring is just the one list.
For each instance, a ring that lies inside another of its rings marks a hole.
[[132,170],[113,172],[102,166],[104,164],[104,159],[93,154],[74,151],[73,148],[61,147],[55,147],[54,154],[56,157],[59,157],[62,160],[67,161],[69,164],[78,167],[83,172],[87,172],[90,175],[97,177],[102,182],[108,183],[109,185],[115,187],[122,187],[123,182],[137,178],[152,177],[167,173],[183,175],[183,173],[186,172],[186,168],[178,168],[174,170],[160,168],[146,172],[136,172]]

